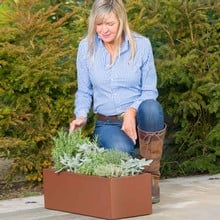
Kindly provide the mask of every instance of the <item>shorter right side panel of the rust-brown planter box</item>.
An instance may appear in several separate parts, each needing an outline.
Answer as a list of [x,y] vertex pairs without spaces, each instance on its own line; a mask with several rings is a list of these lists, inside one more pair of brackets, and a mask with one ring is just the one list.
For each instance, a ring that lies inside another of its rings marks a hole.
[[151,175],[111,179],[112,218],[152,214]]

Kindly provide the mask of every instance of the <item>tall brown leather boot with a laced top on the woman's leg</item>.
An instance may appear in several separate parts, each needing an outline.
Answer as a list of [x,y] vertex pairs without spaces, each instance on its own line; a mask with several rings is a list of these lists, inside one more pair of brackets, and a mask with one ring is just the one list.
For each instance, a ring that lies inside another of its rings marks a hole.
[[160,160],[163,152],[163,142],[167,125],[161,131],[148,132],[138,128],[140,155],[153,162],[145,167],[145,172],[152,174],[152,203],[160,202]]

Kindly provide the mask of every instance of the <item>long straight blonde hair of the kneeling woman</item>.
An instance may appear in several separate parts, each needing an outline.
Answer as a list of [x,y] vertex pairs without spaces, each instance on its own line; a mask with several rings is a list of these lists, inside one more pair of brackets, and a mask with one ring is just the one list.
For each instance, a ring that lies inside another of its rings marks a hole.
[[131,48],[131,59],[134,58],[136,52],[136,46],[134,37],[129,28],[127,13],[122,0],[95,0],[90,12],[89,16],[89,24],[88,24],[88,46],[89,46],[89,55],[94,56],[95,53],[95,24],[96,19],[102,17],[103,19],[108,16],[111,12],[113,12],[119,21],[119,29],[118,34],[115,39],[115,52],[113,57],[113,63],[117,55],[120,54],[120,46],[121,46],[121,37],[123,34],[126,34],[128,37],[129,45]]

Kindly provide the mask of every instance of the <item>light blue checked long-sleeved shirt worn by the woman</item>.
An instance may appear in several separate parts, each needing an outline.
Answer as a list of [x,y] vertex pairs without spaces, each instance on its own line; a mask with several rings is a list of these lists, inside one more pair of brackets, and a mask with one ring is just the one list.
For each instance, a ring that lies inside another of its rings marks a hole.
[[136,54],[131,60],[125,37],[120,55],[110,64],[110,54],[96,36],[94,57],[88,55],[88,41],[83,39],[77,53],[76,117],[87,114],[93,103],[94,113],[118,115],[127,108],[138,109],[146,99],[156,99],[157,76],[149,39],[134,34]]

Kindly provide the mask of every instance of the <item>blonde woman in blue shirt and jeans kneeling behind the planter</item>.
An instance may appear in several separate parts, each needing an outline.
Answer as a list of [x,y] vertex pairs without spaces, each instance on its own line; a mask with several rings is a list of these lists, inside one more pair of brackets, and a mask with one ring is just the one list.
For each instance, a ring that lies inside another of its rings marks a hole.
[[156,101],[156,71],[150,41],[129,29],[122,0],[95,0],[88,35],[77,54],[76,119],[70,133],[82,127],[93,103],[98,144],[134,156],[155,159],[153,199],[159,201],[159,166],[165,135],[161,105]]

